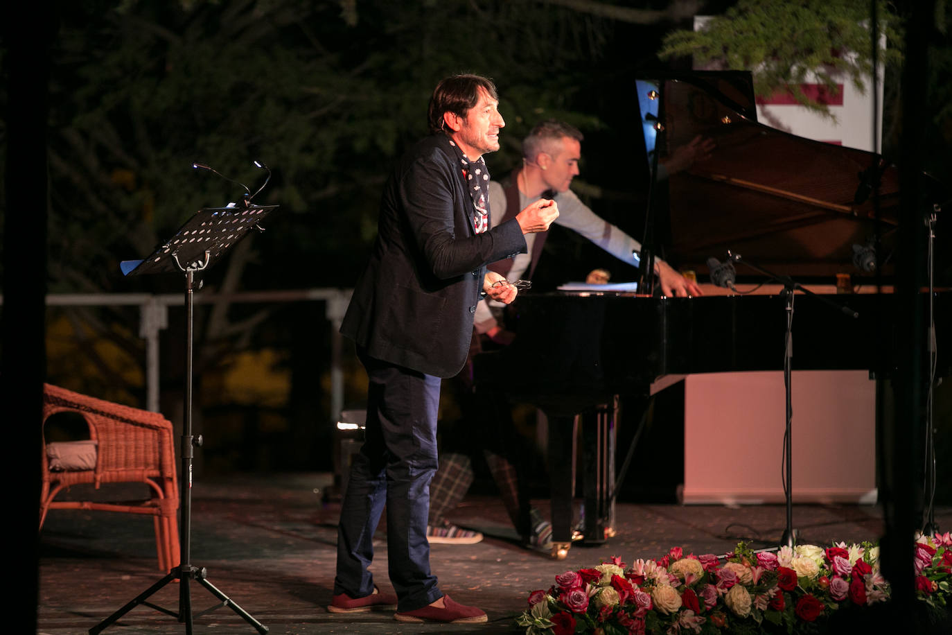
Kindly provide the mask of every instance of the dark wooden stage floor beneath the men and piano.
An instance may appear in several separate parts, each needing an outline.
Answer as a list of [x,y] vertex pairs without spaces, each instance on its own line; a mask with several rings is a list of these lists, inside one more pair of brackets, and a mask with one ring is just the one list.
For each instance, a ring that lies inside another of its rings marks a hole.
[[[573,546],[556,561],[515,544],[502,504],[472,496],[452,518],[486,532],[471,546],[431,546],[431,566],[444,592],[478,605],[487,625],[406,625],[392,612],[328,613],[334,577],[337,505],[322,504],[327,474],[238,475],[196,481],[192,493],[191,564],[208,581],[267,625],[273,635],[309,633],[518,632],[514,618],[530,591],[547,588],[569,568],[595,566],[613,555],[625,562],[661,557],[671,546],[721,554],[745,540],[776,545],[786,524],[784,506],[677,506],[620,504],[618,534],[602,546]],[[315,491],[316,490],[316,491]],[[539,506],[545,508],[545,502]],[[952,526],[952,507],[937,511]],[[801,544],[876,541],[883,531],[878,506],[796,505],[793,526]],[[387,580],[387,543],[377,534],[376,581]],[[39,629],[43,635],[89,632],[163,577],[157,569],[151,519],[96,511],[53,510],[40,535]],[[191,583],[195,633],[257,631],[227,607],[199,615],[217,600]],[[178,583],[150,600],[178,610]],[[184,633],[185,625],[148,606],[132,609],[104,633]]]

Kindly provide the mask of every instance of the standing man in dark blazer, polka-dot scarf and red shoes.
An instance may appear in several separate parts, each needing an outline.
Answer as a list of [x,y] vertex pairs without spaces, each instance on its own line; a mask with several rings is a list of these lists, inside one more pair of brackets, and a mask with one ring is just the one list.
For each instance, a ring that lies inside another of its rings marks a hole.
[[[486,622],[479,608],[446,596],[429,568],[440,380],[466,363],[479,300],[516,297],[486,264],[524,252],[524,234],[545,231],[559,215],[543,199],[489,228],[482,155],[499,149],[506,123],[498,105],[485,77],[443,80],[430,98],[430,136],[407,152],[384,189],[377,239],[341,327],[357,345],[369,386],[366,441],[341,507],[332,612],[397,604],[395,617],[404,622]],[[385,503],[396,598],[380,593],[367,570]]]

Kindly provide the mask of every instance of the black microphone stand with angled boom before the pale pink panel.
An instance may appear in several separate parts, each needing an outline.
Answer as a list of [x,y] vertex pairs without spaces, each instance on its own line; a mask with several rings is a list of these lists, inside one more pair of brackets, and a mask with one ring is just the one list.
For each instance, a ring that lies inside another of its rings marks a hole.
[[812,295],[813,297],[821,300],[823,303],[829,305],[832,308],[843,311],[846,315],[852,318],[859,318],[860,314],[854,311],[852,308],[841,307],[835,302],[824,298],[822,295],[817,295],[808,288],[804,288],[798,282],[795,282],[792,278],[788,276],[779,275],[767,269],[760,268],[753,263],[750,263],[741,256],[739,253],[732,253],[727,251],[727,261],[735,262],[739,264],[744,264],[749,268],[754,269],[760,273],[763,273],[768,278],[777,280],[783,284],[783,295],[786,300],[786,332],[783,337],[783,388],[785,396],[785,423],[783,428],[783,467],[784,467],[784,480],[783,480],[783,496],[786,499],[786,528],[783,530],[783,536],[781,537],[780,544],[781,546],[795,546],[797,544],[797,534],[798,531],[793,528],[793,399],[791,393],[791,378],[793,374],[793,300],[794,300],[794,291],[803,291],[807,295]]

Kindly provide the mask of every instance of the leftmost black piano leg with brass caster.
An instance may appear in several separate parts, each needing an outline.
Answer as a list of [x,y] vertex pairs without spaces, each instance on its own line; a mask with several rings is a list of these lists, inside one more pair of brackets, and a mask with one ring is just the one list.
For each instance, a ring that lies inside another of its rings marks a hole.
[[578,418],[548,416],[548,478],[552,501],[552,557],[563,560],[572,543]]

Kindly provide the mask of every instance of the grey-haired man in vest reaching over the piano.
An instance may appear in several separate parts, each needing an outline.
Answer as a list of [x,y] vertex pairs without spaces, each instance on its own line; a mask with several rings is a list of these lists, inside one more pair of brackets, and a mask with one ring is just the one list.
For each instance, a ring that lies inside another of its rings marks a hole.
[[[579,197],[569,189],[572,179],[579,174],[583,134],[563,122],[548,120],[532,129],[523,140],[523,165],[514,170],[502,182],[489,184],[490,223],[494,227],[506,222],[529,202],[539,198],[554,198],[559,204],[560,215],[556,223],[584,236],[619,260],[638,267],[638,252],[641,244],[587,208]],[[712,146],[701,137],[672,153],[667,161],[668,173],[689,167],[697,158],[706,156]],[[664,174],[664,169],[659,172]],[[492,270],[515,282],[531,278],[542,254],[547,232],[526,235],[526,253],[489,266]],[[655,273],[664,295],[701,295],[697,284],[685,278],[661,259],[656,259]],[[528,271],[526,275],[526,271]],[[596,270],[589,274],[588,282],[607,282],[607,273]],[[506,328],[503,305],[479,303],[476,309],[474,351],[483,347],[505,347],[514,339]],[[462,400],[468,421],[450,425],[442,430],[442,445],[439,470],[430,486],[430,513],[427,535],[430,542],[446,544],[471,544],[482,535],[449,523],[446,515],[463,499],[473,480],[470,455],[482,451],[493,480],[500,490],[510,520],[519,532],[524,546],[551,550],[552,527],[549,521],[534,508],[529,508],[519,489],[519,472],[522,466],[514,457],[524,451],[511,429],[509,413],[505,407],[487,409],[479,404],[486,400],[472,400],[472,367],[466,365],[461,377],[452,383],[456,397]],[[447,383],[448,384],[448,383]],[[499,402],[500,400],[489,400]],[[502,400],[506,403],[506,400]],[[476,438],[473,438],[476,437]],[[565,539],[563,538],[562,541]],[[562,542],[560,541],[560,542]]]

